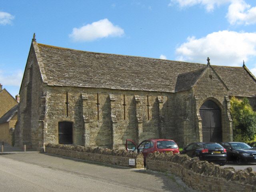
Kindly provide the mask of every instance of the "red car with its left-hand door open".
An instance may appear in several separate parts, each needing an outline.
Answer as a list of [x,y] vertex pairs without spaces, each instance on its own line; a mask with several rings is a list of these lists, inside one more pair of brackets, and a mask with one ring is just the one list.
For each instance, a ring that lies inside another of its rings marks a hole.
[[180,153],[178,145],[170,139],[148,139],[142,141],[138,147],[133,140],[126,139],[125,147],[127,151],[137,150],[137,152],[142,152],[144,162],[148,156],[148,153],[154,153],[156,151],[159,151],[160,153],[170,153],[171,151],[173,153]]

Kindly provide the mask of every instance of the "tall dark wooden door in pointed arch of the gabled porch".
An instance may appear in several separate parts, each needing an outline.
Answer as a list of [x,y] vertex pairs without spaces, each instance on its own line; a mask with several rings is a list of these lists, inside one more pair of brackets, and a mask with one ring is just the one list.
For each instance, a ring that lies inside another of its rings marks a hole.
[[199,109],[202,118],[203,142],[222,142],[221,110],[212,100],[207,100]]

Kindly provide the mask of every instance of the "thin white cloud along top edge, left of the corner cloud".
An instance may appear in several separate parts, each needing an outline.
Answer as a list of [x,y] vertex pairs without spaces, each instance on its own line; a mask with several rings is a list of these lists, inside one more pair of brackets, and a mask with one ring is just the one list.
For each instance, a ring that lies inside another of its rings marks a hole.
[[201,4],[205,6],[208,12],[214,10],[215,6],[220,6],[221,4],[226,4],[232,2],[232,0],[171,0],[168,6],[172,6],[174,3],[178,3],[181,8],[186,6],[194,6],[196,4]]

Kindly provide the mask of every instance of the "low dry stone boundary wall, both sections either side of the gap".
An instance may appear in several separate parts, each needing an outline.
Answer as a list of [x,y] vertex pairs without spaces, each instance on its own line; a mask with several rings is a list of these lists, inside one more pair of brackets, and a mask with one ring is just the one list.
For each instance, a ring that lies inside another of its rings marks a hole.
[[[61,144],[46,144],[45,151],[82,160],[101,162],[131,168],[143,168],[142,153],[126,150],[110,150]],[[135,165],[129,165],[135,159]],[[220,166],[207,161],[199,161],[187,155],[148,154],[146,168],[149,170],[172,173],[180,176],[190,187],[201,192],[253,192],[256,191],[256,172],[248,167],[235,170],[233,167]]]

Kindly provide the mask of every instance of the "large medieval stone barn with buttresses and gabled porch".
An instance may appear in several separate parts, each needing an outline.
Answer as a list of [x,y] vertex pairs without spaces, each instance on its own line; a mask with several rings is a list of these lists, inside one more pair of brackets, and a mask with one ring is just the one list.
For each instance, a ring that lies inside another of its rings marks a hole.
[[256,107],[243,67],[102,54],[38,44],[20,88],[16,145],[124,148],[147,138],[232,141],[231,96]]

